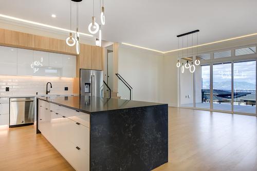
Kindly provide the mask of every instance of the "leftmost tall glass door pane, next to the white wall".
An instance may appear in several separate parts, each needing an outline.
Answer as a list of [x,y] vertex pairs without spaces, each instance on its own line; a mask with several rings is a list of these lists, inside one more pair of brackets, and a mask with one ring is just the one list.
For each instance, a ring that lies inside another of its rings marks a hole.
[[210,109],[210,65],[196,66],[195,107]]

